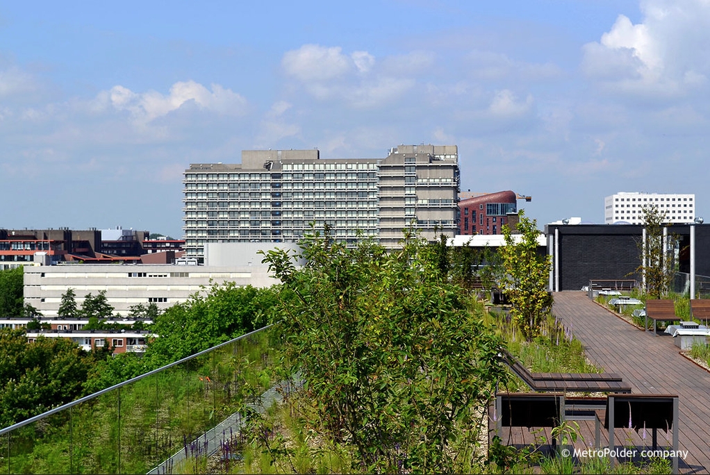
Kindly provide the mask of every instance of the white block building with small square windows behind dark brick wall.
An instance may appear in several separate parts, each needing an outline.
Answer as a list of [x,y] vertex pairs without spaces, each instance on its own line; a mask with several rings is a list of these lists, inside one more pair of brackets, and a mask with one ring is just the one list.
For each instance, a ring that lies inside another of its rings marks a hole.
[[694,194],[618,192],[604,198],[604,223],[643,224],[645,207],[660,209],[665,223],[692,223],[697,216]]

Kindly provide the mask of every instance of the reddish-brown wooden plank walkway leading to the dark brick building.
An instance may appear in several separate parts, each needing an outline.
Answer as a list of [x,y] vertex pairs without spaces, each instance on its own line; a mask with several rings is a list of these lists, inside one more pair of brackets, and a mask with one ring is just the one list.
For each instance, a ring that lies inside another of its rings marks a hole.
[[683,474],[710,473],[710,373],[679,353],[670,335],[655,337],[597,305],[580,291],[554,294],[553,311],[584,344],[589,360],[618,373],[633,393],[679,396]]

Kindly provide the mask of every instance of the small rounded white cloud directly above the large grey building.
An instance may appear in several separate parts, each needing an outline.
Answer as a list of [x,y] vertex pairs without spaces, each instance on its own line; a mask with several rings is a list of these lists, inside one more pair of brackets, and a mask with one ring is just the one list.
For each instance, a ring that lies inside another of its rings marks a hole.
[[[364,58],[363,53],[357,53],[359,60]],[[303,45],[297,50],[287,51],[281,65],[288,75],[302,82],[327,81],[348,72],[351,60],[337,46]]]

